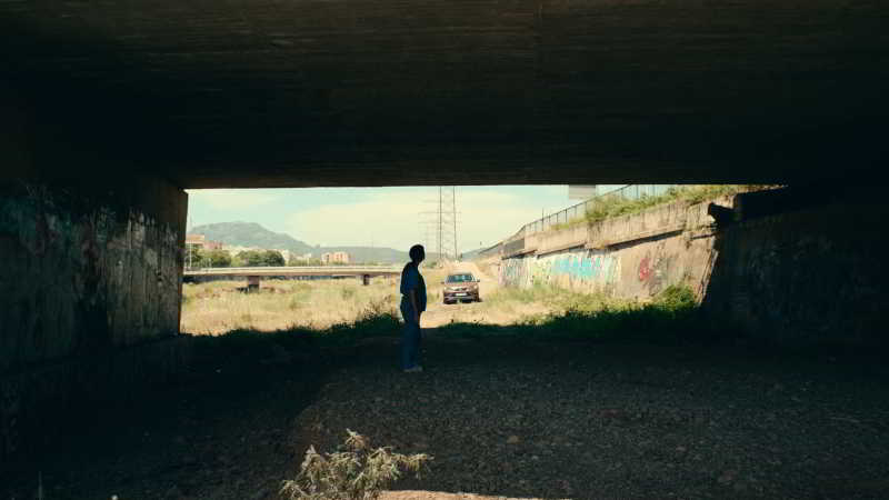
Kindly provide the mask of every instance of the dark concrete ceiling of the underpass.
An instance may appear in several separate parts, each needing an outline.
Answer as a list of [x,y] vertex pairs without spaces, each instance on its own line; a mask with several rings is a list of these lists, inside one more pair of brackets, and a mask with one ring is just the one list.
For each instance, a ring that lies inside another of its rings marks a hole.
[[0,88],[56,177],[73,148],[183,188],[867,182],[887,26],[881,1],[2,1]]

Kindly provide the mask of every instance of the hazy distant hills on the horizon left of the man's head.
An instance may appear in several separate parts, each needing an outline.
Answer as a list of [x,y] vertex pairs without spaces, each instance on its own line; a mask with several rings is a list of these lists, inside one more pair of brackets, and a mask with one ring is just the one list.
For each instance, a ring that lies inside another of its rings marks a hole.
[[408,252],[386,247],[312,247],[290,234],[270,231],[256,222],[217,222],[191,228],[190,233],[203,234],[208,240],[238,247],[277,248],[319,258],[321,253],[343,251],[354,262],[398,263],[408,260]]

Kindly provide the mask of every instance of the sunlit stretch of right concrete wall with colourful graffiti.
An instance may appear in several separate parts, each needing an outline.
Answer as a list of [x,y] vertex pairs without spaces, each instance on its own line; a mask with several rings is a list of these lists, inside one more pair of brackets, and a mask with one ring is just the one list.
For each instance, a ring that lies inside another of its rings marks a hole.
[[[728,198],[716,201],[731,204]],[[713,246],[711,223],[707,203],[677,202],[526,237],[521,251],[527,253],[503,260],[500,282],[553,284],[640,300],[686,283],[702,294]]]

